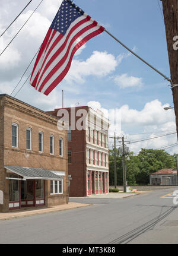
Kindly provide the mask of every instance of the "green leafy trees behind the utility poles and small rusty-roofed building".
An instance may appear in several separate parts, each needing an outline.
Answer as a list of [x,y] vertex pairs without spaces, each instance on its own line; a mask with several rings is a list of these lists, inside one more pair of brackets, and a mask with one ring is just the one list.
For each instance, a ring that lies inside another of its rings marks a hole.
[[[109,185],[115,184],[115,151],[109,150]],[[122,156],[116,148],[117,185],[123,185]],[[129,153],[125,157],[126,181],[129,186],[148,185],[150,174],[160,169],[177,168],[176,154],[165,150],[141,148],[138,156]]]

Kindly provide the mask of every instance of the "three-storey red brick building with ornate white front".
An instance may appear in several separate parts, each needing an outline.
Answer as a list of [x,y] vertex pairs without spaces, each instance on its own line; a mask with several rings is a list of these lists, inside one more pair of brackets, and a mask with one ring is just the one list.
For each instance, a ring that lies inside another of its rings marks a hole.
[[[88,106],[55,109],[49,113],[61,119],[62,113],[67,115],[66,112],[69,120],[68,172],[72,176],[69,195],[85,197],[108,193],[109,120],[104,118],[103,112]],[[81,128],[76,128],[77,125]]]

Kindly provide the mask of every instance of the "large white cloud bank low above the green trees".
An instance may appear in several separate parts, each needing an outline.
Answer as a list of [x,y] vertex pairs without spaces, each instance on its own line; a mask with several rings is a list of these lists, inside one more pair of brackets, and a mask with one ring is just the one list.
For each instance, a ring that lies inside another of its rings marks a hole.
[[[164,106],[159,100],[152,100],[145,104],[142,110],[130,109],[128,105],[122,106],[118,111],[107,110],[102,108],[100,102],[88,102],[88,106],[93,109],[100,109],[107,117],[109,113],[110,128],[109,136],[116,135],[127,137],[127,141],[140,141],[145,138],[157,137],[163,134],[176,132],[176,123],[174,110],[169,112],[164,110]],[[117,115],[117,116],[115,116]],[[120,125],[121,119],[121,125]],[[114,121],[117,120],[117,124]],[[140,134],[133,134],[134,130],[141,131]],[[129,132],[127,132],[129,131]],[[133,135],[132,135],[133,134]],[[169,135],[153,140],[140,141],[138,143],[129,144],[130,151],[138,153],[141,148],[161,148],[177,143],[177,135]],[[113,145],[111,141],[110,146]],[[168,149],[169,153],[177,153],[178,146]]]

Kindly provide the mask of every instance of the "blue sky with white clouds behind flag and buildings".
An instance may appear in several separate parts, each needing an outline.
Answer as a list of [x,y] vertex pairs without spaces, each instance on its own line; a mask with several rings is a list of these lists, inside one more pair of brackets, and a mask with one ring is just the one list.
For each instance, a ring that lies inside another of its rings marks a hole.
[[[0,34],[28,2],[29,0],[1,0]],[[33,0],[0,38],[0,53],[40,2],[41,0]],[[126,140],[131,142],[176,132],[174,109],[164,110],[165,106],[173,106],[169,82],[129,53],[105,31],[89,40],[75,53],[68,74],[48,96],[34,90],[29,80],[23,86],[33,69],[35,59],[24,77],[21,77],[42,44],[61,2],[43,0],[2,53],[0,93],[7,93],[42,110],[53,110],[62,107],[63,90],[65,107],[88,105],[93,109],[103,110],[104,113],[118,109],[121,124],[114,125],[113,114],[110,115],[109,135],[112,137],[114,132],[117,136],[124,134]],[[170,77],[161,1],[75,0],[74,3],[136,54]],[[14,90],[15,86],[17,88]],[[109,143],[112,147],[112,138]],[[157,149],[174,143],[177,143],[176,134],[133,143],[129,145],[129,149],[138,153],[141,148]],[[178,147],[171,147],[166,151],[170,154],[177,153]]]

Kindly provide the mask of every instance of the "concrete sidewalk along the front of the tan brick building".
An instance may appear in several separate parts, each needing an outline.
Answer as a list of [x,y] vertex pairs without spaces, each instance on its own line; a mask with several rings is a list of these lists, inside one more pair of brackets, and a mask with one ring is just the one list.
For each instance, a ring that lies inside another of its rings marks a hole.
[[69,210],[74,208],[86,207],[86,206],[91,206],[91,204],[69,202],[68,204],[62,204],[60,206],[53,206],[53,207],[21,208],[21,210],[18,210],[18,211],[0,213],[0,220],[9,220],[9,219],[27,217],[27,216],[37,215],[37,214],[45,214],[45,213],[52,213],[55,211],[63,211],[63,210]]

